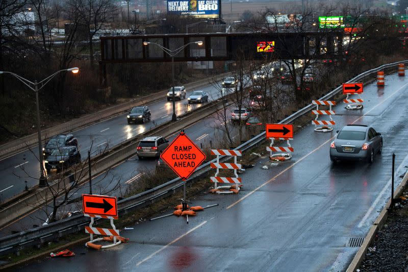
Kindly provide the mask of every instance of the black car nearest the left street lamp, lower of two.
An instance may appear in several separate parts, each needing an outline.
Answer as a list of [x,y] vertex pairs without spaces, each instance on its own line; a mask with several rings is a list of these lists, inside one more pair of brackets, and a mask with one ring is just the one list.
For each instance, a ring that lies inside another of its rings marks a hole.
[[61,171],[69,166],[80,163],[81,154],[77,146],[64,146],[55,149],[45,160],[45,169],[49,172],[51,169]]

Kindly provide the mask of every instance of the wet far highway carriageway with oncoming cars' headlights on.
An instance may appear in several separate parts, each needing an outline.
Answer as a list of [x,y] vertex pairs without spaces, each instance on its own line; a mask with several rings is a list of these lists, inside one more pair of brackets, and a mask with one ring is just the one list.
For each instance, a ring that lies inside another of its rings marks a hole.
[[[220,96],[220,91],[211,84],[197,89],[209,93],[209,101],[215,100]],[[192,108],[201,106],[201,104],[193,104],[189,109],[185,107],[187,105],[187,97],[192,91],[193,89],[188,89],[186,99],[175,102],[177,116]],[[148,104],[148,106],[151,111],[151,121],[146,122],[145,124],[127,124],[127,113],[125,113],[95,123],[86,128],[71,132],[78,138],[82,159],[86,158],[91,144],[91,153],[96,155],[103,152],[107,145],[114,146],[140,133],[143,133],[146,130],[171,120],[171,101],[167,102],[167,100],[164,99]],[[45,137],[45,135],[43,135],[43,137]],[[2,200],[6,200],[9,197],[23,191],[25,187],[25,180],[27,180],[29,187],[33,187],[38,184],[37,178],[39,177],[40,173],[39,162],[36,159],[36,156],[38,155],[38,147],[34,146],[32,151],[33,152],[26,150],[0,161],[0,176],[2,177],[2,183],[0,185],[0,198]],[[28,175],[26,173],[28,173]],[[52,173],[50,175],[52,176]]]

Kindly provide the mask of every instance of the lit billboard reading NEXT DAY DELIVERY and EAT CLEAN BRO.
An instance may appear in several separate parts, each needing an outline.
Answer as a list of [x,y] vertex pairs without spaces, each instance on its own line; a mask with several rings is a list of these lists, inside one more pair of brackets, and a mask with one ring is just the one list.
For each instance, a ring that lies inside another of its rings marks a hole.
[[218,18],[219,6],[219,0],[167,0],[167,14],[197,18]]

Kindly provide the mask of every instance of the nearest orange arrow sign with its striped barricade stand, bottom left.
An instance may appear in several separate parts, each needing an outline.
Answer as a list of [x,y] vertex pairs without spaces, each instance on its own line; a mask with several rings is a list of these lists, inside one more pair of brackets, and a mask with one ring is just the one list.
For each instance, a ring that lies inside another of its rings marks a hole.
[[[113,224],[113,219],[119,218],[117,212],[116,197],[108,195],[83,194],[82,210],[84,212],[84,216],[91,217],[91,223],[89,224],[89,227],[85,227],[85,233],[90,234],[90,241],[85,243],[85,246],[87,248],[96,250],[109,249],[115,245],[120,244],[122,241],[125,242],[127,240],[119,236],[119,230],[117,230],[115,225]],[[95,217],[110,219],[112,229],[93,227]],[[108,237],[94,239],[94,234],[104,235]],[[111,241],[113,243],[108,245],[94,244],[94,242],[98,241]]]

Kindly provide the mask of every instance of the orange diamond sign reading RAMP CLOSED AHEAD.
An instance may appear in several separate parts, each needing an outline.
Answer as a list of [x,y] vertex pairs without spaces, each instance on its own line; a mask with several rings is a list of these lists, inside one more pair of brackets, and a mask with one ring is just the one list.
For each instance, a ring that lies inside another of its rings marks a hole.
[[181,132],[160,157],[182,180],[187,180],[206,159],[206,154],[184,132]]

